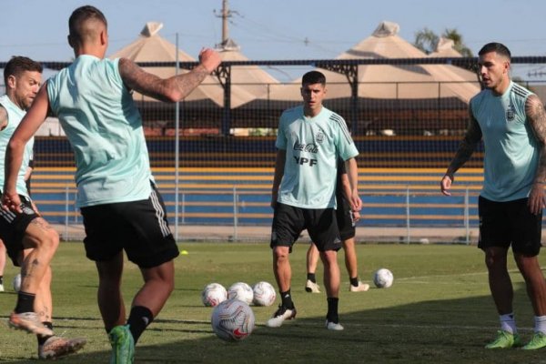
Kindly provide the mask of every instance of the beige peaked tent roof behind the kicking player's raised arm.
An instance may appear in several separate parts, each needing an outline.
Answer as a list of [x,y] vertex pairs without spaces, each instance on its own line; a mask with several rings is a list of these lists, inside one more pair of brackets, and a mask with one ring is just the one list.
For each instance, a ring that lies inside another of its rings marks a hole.
[[[126,57],[136,63],[175,63],[178,62],[197,62],[195,58],[187,55],[187,53],[177,50],[177,46],[168,42],[165,38],[159,35],[159,30],[163,27],[162,23],[148,22],[138,38],[129,45],[126,45],[109,58]],[[178,59],[177,59],[178,52]],[[231,52],[228,52],[231,54]],[[227,56],[224,55],[224,56]],[[174,76],[176,69],[172,66],[144,66],[147,72],[160,77]],[[180,69],[180,73],[187,73],[187,69]],[[232,79],[233,76],[232,75]],[[231,85],[230,102],[231,107],[237,107],[248,103],[256,98],[256,95],[248,92],[245,86]],[[148,96],[143,96],[134,93],[134,98],[139,102],[154,102],[156,99]],[[188,95],[184,101],[195,102],[198,106],[206,106],[212,103],[217,106],[224,105],[224,88],[220,84],[216,76],[207,76],[200,86]]]

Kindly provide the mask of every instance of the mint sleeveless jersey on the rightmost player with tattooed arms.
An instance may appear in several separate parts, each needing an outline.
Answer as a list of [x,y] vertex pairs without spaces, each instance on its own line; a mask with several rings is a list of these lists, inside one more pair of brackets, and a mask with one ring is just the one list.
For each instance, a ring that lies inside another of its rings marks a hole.
[[501,96],[483,90],[470,100],[485,147],[481,196],[492,201],[529,197],[540,154],[525,113],[525,102],[531,95],[511,82]]

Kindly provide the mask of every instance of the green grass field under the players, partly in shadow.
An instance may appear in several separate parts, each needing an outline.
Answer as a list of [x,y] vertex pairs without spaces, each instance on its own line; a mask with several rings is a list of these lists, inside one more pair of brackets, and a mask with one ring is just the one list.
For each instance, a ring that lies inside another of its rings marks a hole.
[[[325,294],[303,289],[307,244],[297,244],[291,262],[298,318],[270,329],[265,322],[276,306],[253,307],[257,327],[238,343],[214,335],[212,308],[201,304],[200,292],[210,282],[228,287],[237,281],[252,285],[267,280],[276,286],[268,245],[189,243],[180,248],[188,255],[176,260],[176,289],[138,342],[136,363],[546,363],[546,349],[483,349],[499,324],[483,257],[475,247],[359,245],[360,278],[371,284],[372,272],[386,267],[394,274],[394,285],[350,293],[342,267],[339,312],[345,330],[333,332],[324,328]],[[108,362],[110,346],[96,307],[94,264],[86,260],[82,244],[63,243],[53,265],[56,333],[88,339],[86,348],[63,362]],[[513,263],[511,273],[514,310],[522,339],[527,341],[533,325],[531,304]],[[4,321],[15,306],[10,288],[15,274],[13,267],[5,272],[7,289],[0,294]],[[138,270],[127,264],[127,305],[139,285]],[[0,330],[0,362],[26,363],[36,358],[33,336],[6,325]]]

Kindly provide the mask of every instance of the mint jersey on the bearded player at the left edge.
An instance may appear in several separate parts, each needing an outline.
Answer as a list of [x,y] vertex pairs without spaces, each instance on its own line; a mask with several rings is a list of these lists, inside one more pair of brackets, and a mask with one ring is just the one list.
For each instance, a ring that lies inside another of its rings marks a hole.
[[[19,123],[25,116],[26,111],[16,106],[7,95],[0,96],[0,105],[4,106],[7,112],[7,125],[3,130],[0,130],[0,189],[4,188],[4,172],[5,172],[5,149],[11,136],[14,135],[15,128],[19,126]],[[25,173],[28,169],[28,162],[32,156],[32,150],[34,147],[34,137],[32,137],[25,145],[25,152],[23,153],[23,162],[17,173],[17,194],[30,198],[28,190],[26,189]]]

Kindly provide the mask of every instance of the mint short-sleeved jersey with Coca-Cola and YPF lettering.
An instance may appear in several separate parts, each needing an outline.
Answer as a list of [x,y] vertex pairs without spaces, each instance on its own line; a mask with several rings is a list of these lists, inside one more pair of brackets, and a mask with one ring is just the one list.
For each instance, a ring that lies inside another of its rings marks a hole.
[[280,116],[276,147],[287,152],[278,202],[336,207],[338,158],[359,155],[345,120],[324,106],[315,117],[304,116],[303,106],[290,108]]

